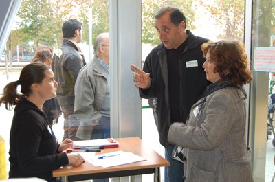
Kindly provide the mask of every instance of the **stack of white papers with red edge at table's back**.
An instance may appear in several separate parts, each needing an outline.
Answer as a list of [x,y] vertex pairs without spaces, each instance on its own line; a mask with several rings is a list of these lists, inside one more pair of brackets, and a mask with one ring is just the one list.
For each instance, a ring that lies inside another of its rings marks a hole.
[[87,148],[99,146],[104,146],[104,148],[113,148],[118,147],[119,145],[120,143],[118,143],[118,141],[115,141],[115,139],[113,138],[74,141],[74,148]]

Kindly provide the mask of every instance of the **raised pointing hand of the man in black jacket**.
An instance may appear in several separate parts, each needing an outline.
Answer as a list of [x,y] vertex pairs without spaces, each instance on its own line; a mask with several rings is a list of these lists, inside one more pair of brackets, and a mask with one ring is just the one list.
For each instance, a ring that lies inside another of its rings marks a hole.
[[131,65],[131,70],[133,72],[133,81],[137,87],[142,89],[148,89],[151,87],[150,73],[145,73],[135,65]]

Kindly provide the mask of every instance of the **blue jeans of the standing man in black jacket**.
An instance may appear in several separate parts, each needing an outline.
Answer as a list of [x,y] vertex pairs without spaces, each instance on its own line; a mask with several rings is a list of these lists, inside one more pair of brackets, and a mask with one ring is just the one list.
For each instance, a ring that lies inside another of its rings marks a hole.
[[184,182],[184,164],[172,159],[174,147],[165,148],[165,159],[170,162],[170,167],[164,168],[164,182]]

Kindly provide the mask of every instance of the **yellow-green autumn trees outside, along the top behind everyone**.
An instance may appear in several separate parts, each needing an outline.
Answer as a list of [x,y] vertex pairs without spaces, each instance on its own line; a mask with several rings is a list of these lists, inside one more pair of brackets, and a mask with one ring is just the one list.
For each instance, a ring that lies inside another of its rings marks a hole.
[[[199,5],[210,14],[209,19],[214,20],[223,29],[223,33],[218,34],[217,38],[243,40],[243,0],[142,0],[142,43],[152,46],[160,43],[154,27],[154,16],[157,10],[167,5],[183,10],[188,30],[200,28],[196,27],[196,22],[200,19],[197,16]],[[7,47],[11,51],[19,45],[19,47],[25,47],[25,51],[29,51],[28,54],[33,54],[39,45],[61,47],[61,27],[63,22],[70,18],[78,19],[83,23],[83,43],[89,43],[90,9],[92,11],[92,42],[94,42],[94,38],[100,32],[109,32],[109,0],[22,0],[17,14],[20,19],[18,29],[12,30]],[[30,42],[33,45],[30,45]]]

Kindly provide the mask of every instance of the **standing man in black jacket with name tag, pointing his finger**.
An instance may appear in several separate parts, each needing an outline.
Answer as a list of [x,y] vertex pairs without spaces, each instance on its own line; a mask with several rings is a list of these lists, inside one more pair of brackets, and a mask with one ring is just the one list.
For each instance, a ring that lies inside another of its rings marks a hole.
[[173,122],[186,122],[195,104],[210,84],[203,71],[201,44],[208,39],[186,30],[186,18],[178,8],[162,8],[155,15],[155,28],[162,43],[148,54],[143,71],[131,65],[134,82],[142,98],[156,98],[157,130],[170,167],[165,168],[164,181],[184,181],[183,164],[172,159],[175,146],[167,135]]

